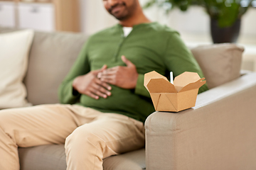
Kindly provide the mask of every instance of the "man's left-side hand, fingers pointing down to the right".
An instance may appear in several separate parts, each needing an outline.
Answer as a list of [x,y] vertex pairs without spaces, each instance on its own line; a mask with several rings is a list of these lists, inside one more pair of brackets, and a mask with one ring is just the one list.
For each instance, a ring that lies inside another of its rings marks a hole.
[[107,98],[107,96],[111,95],[111,86],[97,79],[97,74],[105,69],[107,69],[107,65],[104,65],[101,69],[76,77],[73,81],[73,88],[80,94],[85,94],[95,99],[99,99],[100,96]]

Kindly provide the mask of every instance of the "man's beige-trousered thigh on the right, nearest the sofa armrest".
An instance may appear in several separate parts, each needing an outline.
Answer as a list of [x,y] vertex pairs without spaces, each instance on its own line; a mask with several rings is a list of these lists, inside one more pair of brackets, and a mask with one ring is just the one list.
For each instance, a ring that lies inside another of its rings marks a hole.
[[97,115],[95,120],[81,125],[68,138],[73,137],[95,145],[103,151],[103,158],[139,149],[145,142],[143,123],[116,113]]

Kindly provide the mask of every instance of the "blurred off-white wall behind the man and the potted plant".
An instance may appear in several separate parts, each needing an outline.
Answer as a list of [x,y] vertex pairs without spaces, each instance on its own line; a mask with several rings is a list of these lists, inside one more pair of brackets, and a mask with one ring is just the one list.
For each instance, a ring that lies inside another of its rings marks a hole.
[[[144,4],[146,0],[140,0]],[[98,30],[113,26],[116,19],[110,16],[102,4],[102,0],[80,0],[82,32],[90,35]],[[210,19],[203,8],[193,6],[186,12],[175,9],[166,16],[158,8],[145,10],[146,16],[151,21],[159,21],[171,28],[178,30],[185,40],[198,38],[201,41],[210,41]],[[250,8],[242,17],[240,40],[255,38],[251,40],[256,43],[256,8]]]

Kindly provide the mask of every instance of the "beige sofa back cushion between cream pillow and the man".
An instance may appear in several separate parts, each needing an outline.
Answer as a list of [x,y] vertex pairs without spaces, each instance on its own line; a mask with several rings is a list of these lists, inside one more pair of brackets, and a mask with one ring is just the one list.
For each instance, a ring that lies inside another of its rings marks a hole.
[[85,35],[77,33],[35,33],[24,79],[30,103],[59,103],[58,86],[85,40]]

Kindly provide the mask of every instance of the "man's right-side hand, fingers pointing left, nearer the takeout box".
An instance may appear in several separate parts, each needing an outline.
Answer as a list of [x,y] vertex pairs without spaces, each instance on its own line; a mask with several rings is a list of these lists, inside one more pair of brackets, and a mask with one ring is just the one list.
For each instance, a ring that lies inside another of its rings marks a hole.
[[123,89],[135,89],[139,74],[136,66],[127,60],[124,55],[122,61],[127,64],[127,67],[117,66],[110,69],[105,69],[97,74],[97,77],[108,84],[119,86]]

